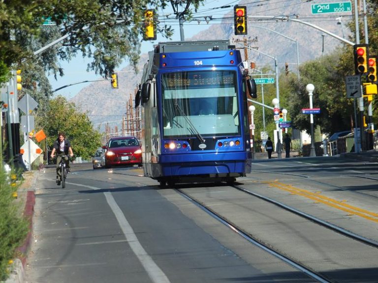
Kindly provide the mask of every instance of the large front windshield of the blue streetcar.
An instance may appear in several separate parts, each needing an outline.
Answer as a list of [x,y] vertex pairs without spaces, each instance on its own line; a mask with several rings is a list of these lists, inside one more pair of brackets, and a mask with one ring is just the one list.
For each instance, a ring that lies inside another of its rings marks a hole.
[[236,72],[164,73],[164,138],[240,134]]

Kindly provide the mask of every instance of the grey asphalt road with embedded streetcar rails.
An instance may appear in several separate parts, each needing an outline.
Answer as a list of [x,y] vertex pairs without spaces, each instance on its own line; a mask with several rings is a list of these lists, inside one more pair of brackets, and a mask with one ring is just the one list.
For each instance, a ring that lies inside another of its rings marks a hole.
[[[254,161],[252,173],[238,181],[378,241],[375,216],[348,214],[309,197],[374,212],[377,174],[374,163],[290,158]],[[158,182],[141,175],[138,168],[92,170],[92,164],[79,164],[62,189],[54,181],[54,168],[41,171],[25,282],[314,282],[176,190],[159,189]],[[375,282],[376,248],[226,185],[178,188],[334,282]]]

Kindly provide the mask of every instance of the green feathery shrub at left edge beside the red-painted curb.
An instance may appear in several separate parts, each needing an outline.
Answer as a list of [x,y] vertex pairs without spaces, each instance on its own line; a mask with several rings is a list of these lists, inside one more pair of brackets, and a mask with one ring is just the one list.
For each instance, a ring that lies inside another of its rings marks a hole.
[[19,204],[13,197],[20,186],[16,178],[15,173],[9,175],[0,166],[0,281],[8,278],[9,260],[16,257],[16,249],[25,240],[29,229],[28,221],[21,216]]

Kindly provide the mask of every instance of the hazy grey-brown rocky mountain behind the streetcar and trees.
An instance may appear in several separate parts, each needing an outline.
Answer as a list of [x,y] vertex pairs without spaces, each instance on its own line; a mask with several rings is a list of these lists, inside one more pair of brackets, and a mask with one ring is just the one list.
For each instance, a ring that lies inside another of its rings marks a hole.
[[[337,2],[337,0],[328,0],[327,2]],[[239,5],[242,4],[243,1],[239,3]],[[285,62],[289,64],[291,71],[297,72],[297,55],[299,55],[299,63],[303,63],[330,53],[341,46],[339,39],[321,30],[305,24],[282,20],[283,17],[292,17],[297,21],[321,27],[343,37],[346,32],[345,25],[352,19],[351,13],[312,15],[312,4],[314,4],[313,1],[305,0],[245,1],[249,19],[246,39],[248,46],[252,48],[247,54],[248,61],[254,61],[257,69],[269,65],[274,70],[273,58],[276,58],[280,72],[284,70]],[[230,44],[235,44],[237,48],[243,48],[244,37],[234,35],[233,9],[232,7],[230,9],[231,11],[223,19],[217,19],[214,12],[213,20],[209,21],[209,28],[186,40],[229,39]],[[336,20],[341,15],[343,17]],[[263,18],[252,19],[252,17],[261,16],[277,16],[280,19],[276,21],[268,21]],[[189,24],[193,25],[193,22]],[[298,45],[298,51],[296,45]],[[242,56],[244,54],[242,51]],[[126,103],[130,96],[134,97],[134,89],[140,83],[143,65],[146,61],[147,54],[141,55],[138,66],[140,71],[137,74],[132,71],[131,67],[118,71],[118,89],[112,89],[109,81],[95,82],[83,88],[71,101],[76,104],[78,109],[88,113],[95,126],[100,125],[103,130],[104,124],[109,123],[111,128],[117,125],[120,129],[122,117],[126,113]]]

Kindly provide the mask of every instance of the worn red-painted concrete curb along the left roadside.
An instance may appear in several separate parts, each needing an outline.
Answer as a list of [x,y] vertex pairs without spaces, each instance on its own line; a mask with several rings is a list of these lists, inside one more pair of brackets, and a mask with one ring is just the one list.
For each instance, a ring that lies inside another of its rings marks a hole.
[[27,255],[32,243],[32,228],[33,228],[33,214],[35,205],[35,183],[37,172],[33,172],[33,181],[31,188],[28,189],[26,203],[23,216],[29,222],[29,232],[24,240],[24,243],[16,249],[16,253],[20,256],[14,259],[12,264],[12,272],[9,278],[4,283],[23,283],[25,278],[25,268],[27,263]]

